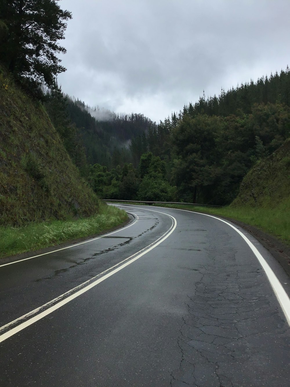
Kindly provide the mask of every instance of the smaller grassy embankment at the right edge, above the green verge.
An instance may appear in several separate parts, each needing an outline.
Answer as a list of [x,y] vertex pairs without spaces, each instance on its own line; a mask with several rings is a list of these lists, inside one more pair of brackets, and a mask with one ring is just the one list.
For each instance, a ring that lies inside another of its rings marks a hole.
[[290,210],[290,139],[247,173],[232,206]]

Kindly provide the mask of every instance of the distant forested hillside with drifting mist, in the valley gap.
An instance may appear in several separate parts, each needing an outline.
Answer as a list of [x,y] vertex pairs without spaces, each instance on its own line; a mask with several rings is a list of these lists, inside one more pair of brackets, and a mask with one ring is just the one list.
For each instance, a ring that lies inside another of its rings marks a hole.
[[[68,117],[78,128],[90,164],[100,163],[115,168],[130,163],[135,156],[129,149],[131,141],[157,128],[154,122],[140,113],[116,114],[90,108],[69,96],[66,99]],[[138,153],[137,158],[140,159],[141,154]]]

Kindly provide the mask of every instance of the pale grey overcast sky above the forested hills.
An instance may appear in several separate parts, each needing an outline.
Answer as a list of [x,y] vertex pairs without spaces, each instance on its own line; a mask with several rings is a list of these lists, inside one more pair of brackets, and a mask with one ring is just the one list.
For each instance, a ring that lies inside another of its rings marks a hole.
[[90,106],[157,123],[223,87],[290,65],[289,0],[61,0],[58,76]]

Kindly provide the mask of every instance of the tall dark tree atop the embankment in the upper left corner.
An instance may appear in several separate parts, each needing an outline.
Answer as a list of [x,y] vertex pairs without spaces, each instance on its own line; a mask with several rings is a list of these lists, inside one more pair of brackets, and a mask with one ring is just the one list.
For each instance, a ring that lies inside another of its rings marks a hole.
[[56,0],[4,0],[0,7],[2,64],[16,77],[51,85],[65,71],[56,54],[66,52],[58,41],[64,39],[71,13],[61,10]]

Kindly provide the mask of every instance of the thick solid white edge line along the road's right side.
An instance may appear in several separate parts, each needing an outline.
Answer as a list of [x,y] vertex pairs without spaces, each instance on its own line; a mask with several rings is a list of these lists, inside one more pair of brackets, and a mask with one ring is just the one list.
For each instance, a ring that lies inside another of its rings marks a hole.
[[[130,204],[130,205],[132,205],[132,204]],[[160,207],[160,208],[171,208],[171,207]],[[203,214],[202,212],[196,212],[196,211],[182,210],[182,209],[179,209],[179,208],[171,208],[171,209],[178,210],[178,211],[193,212],[194,214],[200,214],[200,215],[209,216],[209,217],[212,217],[214,219],[217,219],[217,220],[219,220],[219,221],[229,225],[235,231],[237,231],[237,233],[239,233],[241,235],[241,237],[249,245],[249,247],[251,248],[252,252],[256,255],[256,258],[258,259],[258,261],[260,262],[261,266],[263,267],[264,272],[266,273],[266,276],[267,276],[267,278],[268,278],[268,280],[270,282],[270,285],[271,285],[271,287],[272,287],[272,289],[274,291],[274,294],[275,294],[275,296],[276,296],[276,298],[277,298],[277,300],[278,300],[278,302],[279,302],[279,304],[280,304],[280,306],[281,306],[281,308],[283,310],[283,313],[284,313],[284,315],[286,317],[288,325],[290,326],[290,299],[289,299],[285,289],[281,285],[280,281],[276,277],[276,275],[273,272],[273,270],[271,269],[271,267],[268,265],[268,263],[264,259],[263,255],[258,251],[258,249],[253,245],[253,243],[239,229],[237,229],[235,226],[233,226],[229,222],[227,222],[227,221],[225,221],[223,219],[220,219],[220,218],[218,218],[216,216],[213,216],[213,215]]]

